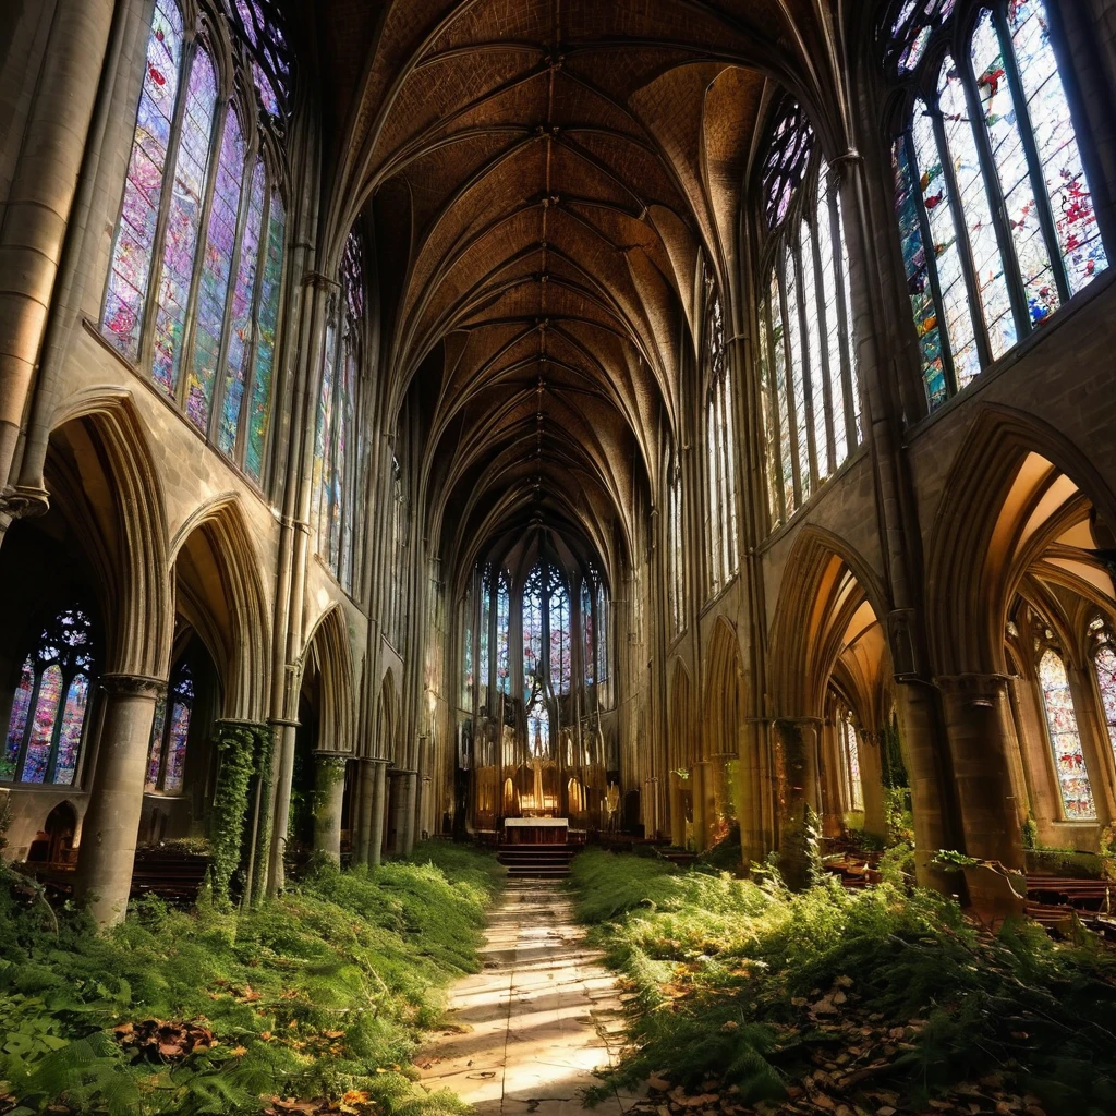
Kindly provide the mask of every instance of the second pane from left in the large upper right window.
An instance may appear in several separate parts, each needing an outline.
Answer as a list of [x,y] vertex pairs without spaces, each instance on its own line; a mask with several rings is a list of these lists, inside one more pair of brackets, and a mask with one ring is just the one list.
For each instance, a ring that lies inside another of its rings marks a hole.
[[953,367],[959,386],[964,386],[980,373],[977,330],[969,307],[964,271],[961,268],[950,187],[942,169],[933,121],[921,102],[915,107],[911,138],[914,142],[915,160],[920,169],[922,201],[930,224],[939,285],[945,306],[945,325],[953,355]]

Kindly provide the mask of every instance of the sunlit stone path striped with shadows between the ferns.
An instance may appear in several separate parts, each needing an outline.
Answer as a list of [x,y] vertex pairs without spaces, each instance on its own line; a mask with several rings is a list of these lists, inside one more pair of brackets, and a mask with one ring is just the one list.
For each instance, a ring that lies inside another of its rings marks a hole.
[[[489,916],[484,969],[450,993],[450,1019],[416,1059],[429,1089],[452,1089],[480,1116],[574,1116],[594,1070],[622,1047],[623,1007],[600,954],[585,944],[559,882],[510,879]],[[614,1091],[591,1112],[620,1116]]]

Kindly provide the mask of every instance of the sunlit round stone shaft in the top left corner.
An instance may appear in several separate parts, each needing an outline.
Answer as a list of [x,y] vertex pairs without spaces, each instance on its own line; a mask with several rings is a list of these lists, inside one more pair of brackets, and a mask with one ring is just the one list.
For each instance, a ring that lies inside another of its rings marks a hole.
[[[59,0],[0,228],[0,484],[7,484],[46,329],[113,0]],[[4,492],[3,494],[9,494]]]

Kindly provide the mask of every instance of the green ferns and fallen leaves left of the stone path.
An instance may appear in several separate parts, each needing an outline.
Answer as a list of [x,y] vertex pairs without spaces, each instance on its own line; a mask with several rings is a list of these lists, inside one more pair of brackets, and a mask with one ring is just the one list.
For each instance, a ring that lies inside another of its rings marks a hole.
[[240,915],[145,901],[105,935],[6,874],[0,1113],[458,1112],[407,1062],[441,990],[478,969],[501,874],[431,843],[371,872],[319,868]]

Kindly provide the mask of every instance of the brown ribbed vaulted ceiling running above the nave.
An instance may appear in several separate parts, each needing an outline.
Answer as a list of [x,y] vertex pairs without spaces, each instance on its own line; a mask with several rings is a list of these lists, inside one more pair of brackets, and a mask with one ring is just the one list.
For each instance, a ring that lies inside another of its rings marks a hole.
[[767,107],[843,100],[830,2],[317,0],[325,242],[371,213],[443,558],[540,520],[607,569],[635,550]]

